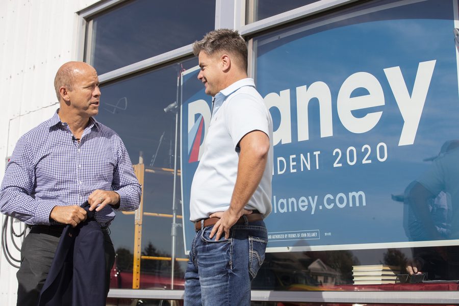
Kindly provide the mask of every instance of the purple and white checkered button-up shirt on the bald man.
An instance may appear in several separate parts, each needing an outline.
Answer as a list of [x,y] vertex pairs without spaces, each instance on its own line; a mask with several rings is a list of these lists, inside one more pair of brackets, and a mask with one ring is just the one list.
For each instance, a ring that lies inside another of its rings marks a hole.
[[[49,219],[55,206],[81,205],[96,189],[117,192],[117,210],[139,207],[141,188],[121,138],[91,118],[78,142],[56,112],[16,143],[0,187],[0,211],[27,224],[58,224]],[[115,212],[107,205],[95,216],[108,225]]]

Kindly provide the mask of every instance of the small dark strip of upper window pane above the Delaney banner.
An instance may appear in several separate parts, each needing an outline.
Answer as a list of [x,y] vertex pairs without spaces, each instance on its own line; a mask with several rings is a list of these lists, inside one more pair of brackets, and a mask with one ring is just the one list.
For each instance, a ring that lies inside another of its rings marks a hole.
[[247,0],[246,23],[248,24],[265,19],[317,1],[318,0]]

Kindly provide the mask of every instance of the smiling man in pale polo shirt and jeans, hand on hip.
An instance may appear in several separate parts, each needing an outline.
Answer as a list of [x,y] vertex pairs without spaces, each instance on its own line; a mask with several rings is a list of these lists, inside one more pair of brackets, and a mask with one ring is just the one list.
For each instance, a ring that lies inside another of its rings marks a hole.
[[247,46],[237,31],[212,31],[193,52],[214,103],[191,187],[196,236],[185,305],[249,305],[267,244],[263,218],[271,212],[272,119],[247,78]]

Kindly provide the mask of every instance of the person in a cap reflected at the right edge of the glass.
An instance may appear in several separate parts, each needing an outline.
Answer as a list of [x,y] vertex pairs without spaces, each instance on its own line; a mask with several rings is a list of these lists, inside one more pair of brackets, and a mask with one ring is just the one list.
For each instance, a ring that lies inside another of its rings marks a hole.
[[[447,141],[439,156],[421,177],[405,190],[415,214],[414,240],[445,240],[459,237],[459,141]],[[416,225],[417,224],[417,225]],[[429,278],[457,279],[459,251],[456,246],[413,250],[406,270],[427,272]],[[432,276],[433,275],[433,276]]]

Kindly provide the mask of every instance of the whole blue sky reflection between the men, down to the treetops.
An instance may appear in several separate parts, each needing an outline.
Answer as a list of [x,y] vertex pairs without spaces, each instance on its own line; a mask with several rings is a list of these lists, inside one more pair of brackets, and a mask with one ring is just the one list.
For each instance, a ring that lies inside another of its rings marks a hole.
[[[139,162],[142,151],[144,164],[149,168],[156,150],[158,155],[155,168],[173,168],[175,116],[165,113],[164,108],[175,101],[177,94],[177,75],[182,68],[197,64],[190,59],[181,64],[138,74],[129,79],[104,85],[101,88],[101,104],[96,119],[111,127],[123,140],[133,164]],[[127,103],[124,103],[124,99]],[[118,108],[113,107],[118,105]],[[160,144],[161,135],[164,133]],[[180,140],[179,140],[180,141]],[[180,157],[179,157],[180,158]],[[170,163],[172,161],[172,164]],[[180,164],[179,164],[180,169]],[[145,172],[143,188],[143,211],[149,213],[172,214],[172,172]],[[177,199],[180,198],[180,183],[177,184]],[[182,214],[177,201],[177,214]],[[143,217],[142,249],[151,242],[157,249],[170,253],[171,218]],[[177,219],[181,222],[181,219]],[[125,247],[133,250],[134,215],[117,213],[110,226],[115,249]],[[183,238],[177,237],[177,257],[183,257]]]

